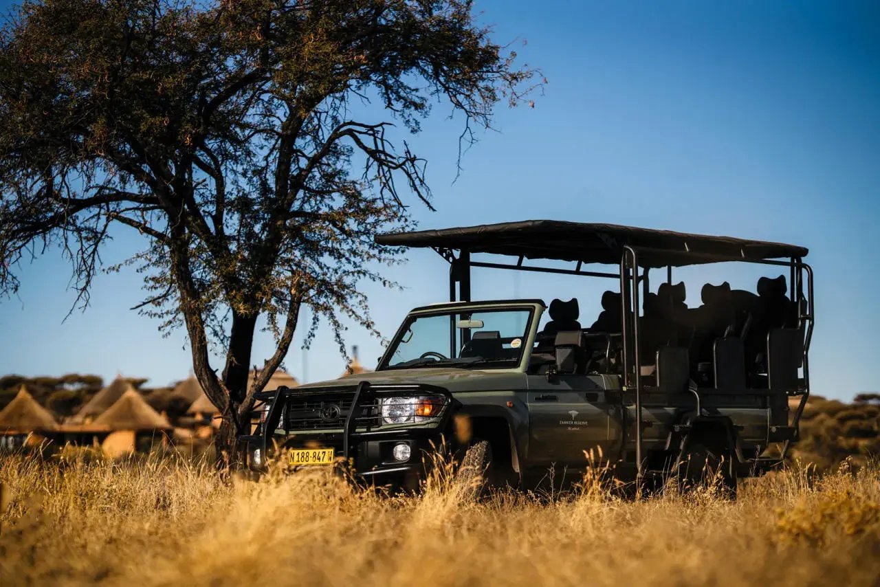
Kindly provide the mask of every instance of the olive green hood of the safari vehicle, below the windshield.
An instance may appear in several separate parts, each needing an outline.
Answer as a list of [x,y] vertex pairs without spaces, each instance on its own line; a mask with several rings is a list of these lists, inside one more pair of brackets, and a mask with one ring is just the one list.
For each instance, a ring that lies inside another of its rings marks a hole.
[[480,392],[504,389],[524,389],[526,375],[521,371],[499,369],[459,369],[436,367],[422,369],[392,369],[358,373],[339,379],[300,385],[297,392],[309,392],[328,387],[347,387],[361,381],[373,384],[427,384],[445,387],[450,392]]

